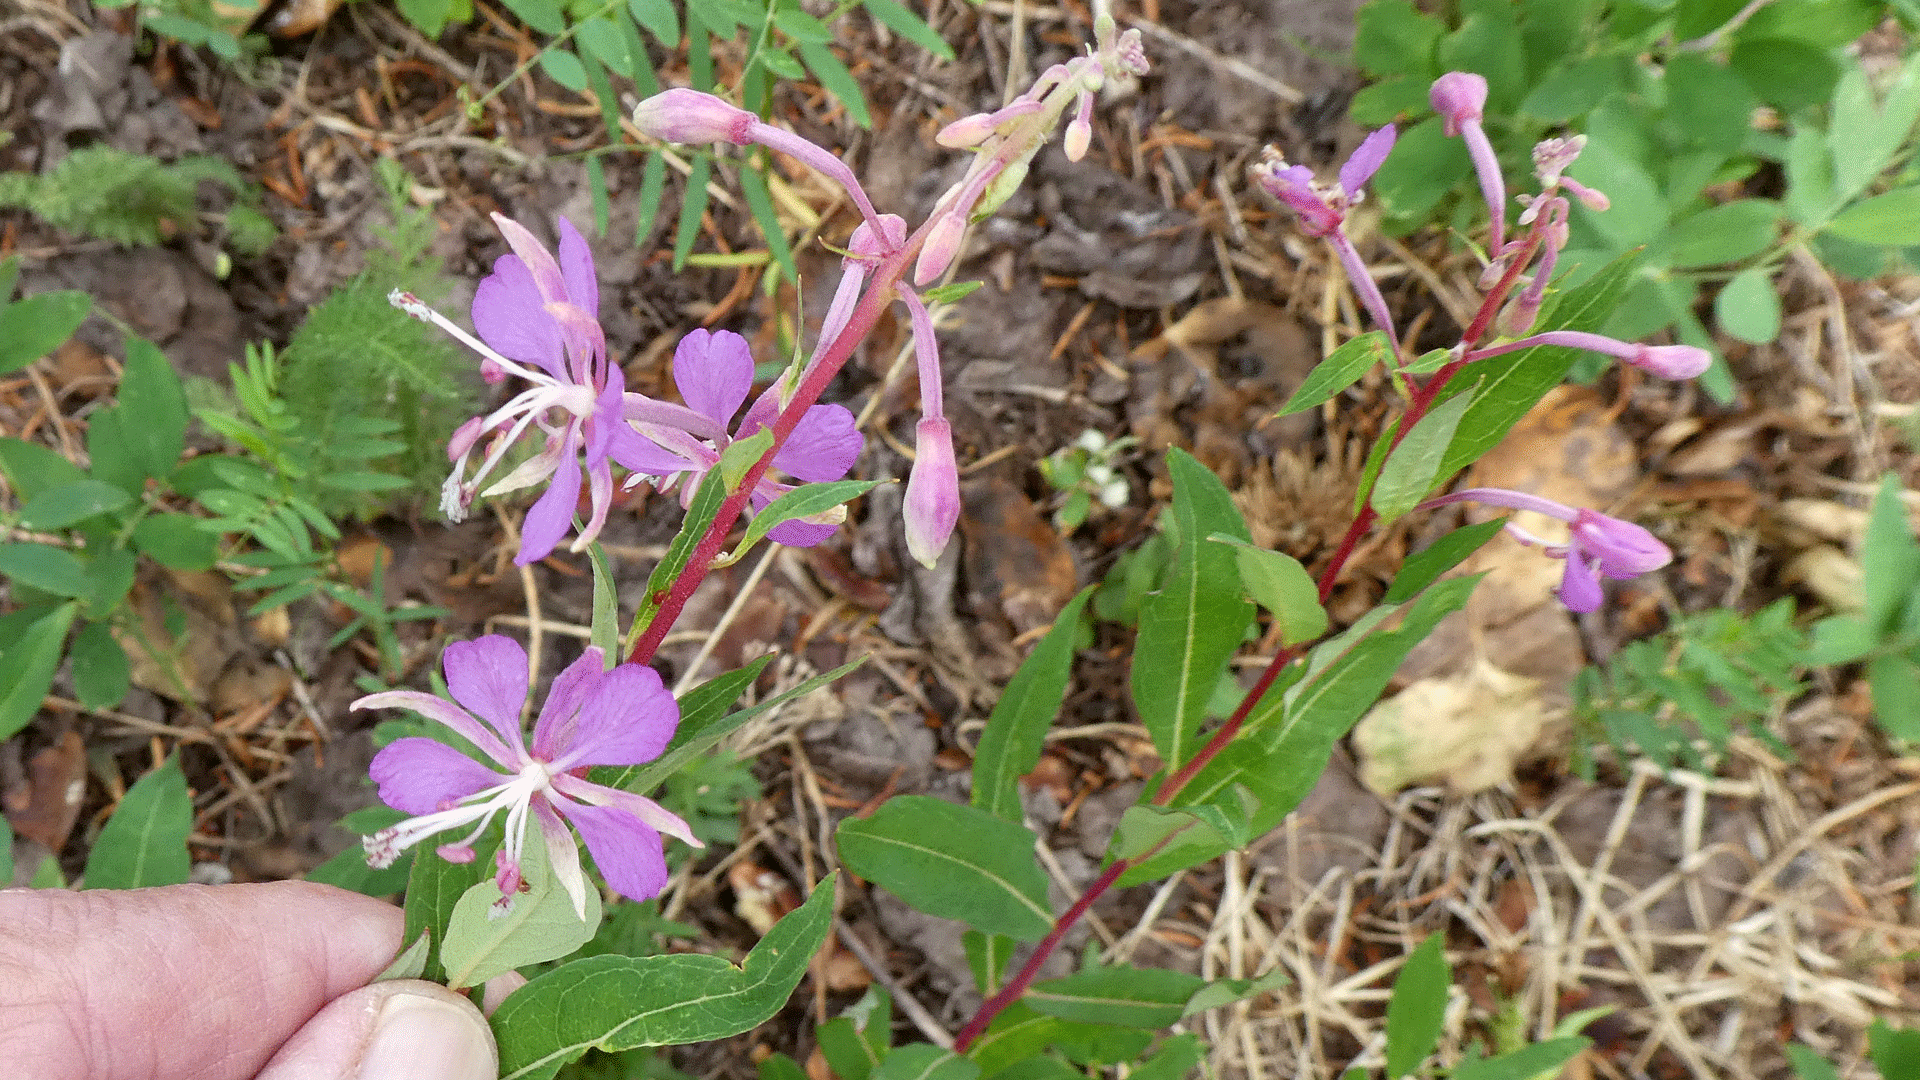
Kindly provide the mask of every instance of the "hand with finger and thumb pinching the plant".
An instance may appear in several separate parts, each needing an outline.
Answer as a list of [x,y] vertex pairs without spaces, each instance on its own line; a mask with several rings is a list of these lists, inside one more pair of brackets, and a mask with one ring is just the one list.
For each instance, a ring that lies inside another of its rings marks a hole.
[[495,1080],[430,982],[367,986],[399,909],[307,882],[0,892],[0,1072],[25,1080]]

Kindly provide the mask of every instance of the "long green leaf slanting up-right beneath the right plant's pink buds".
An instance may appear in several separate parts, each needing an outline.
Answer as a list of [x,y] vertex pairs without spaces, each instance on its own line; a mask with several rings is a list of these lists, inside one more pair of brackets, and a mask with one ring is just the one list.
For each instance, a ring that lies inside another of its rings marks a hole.
[[[1582,158],[1584,160],[1584,158]],[[1540,331],[1597,331],[1620,302],[1620,294],[1632,281],[1638,254],[1626,254],[1601,267],[1586,282],[1557,296],[1540,317]],[[1521,417],[1532,409],[1548,390],[1567,379],[1576,350],[1569,348],[1528,348],[1480,359],[1467,365],[1461,375],[1478,377],[1473,386],[1473,405],[1461,417],[1440,459],[1440,477],[1452,477],[1492,450]]]

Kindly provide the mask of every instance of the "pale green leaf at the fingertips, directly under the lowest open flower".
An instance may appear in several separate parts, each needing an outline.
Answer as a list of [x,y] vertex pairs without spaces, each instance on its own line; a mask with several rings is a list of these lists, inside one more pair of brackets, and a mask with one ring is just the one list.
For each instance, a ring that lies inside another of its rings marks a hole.
[[591,878],[586,884],[586,917],[580,917],[574,897],[555,880],[547,846],[538,836],[520,849],[520,876],[526,888],[505,915],[492,911],[499,901],[499,886],[492,880],[461,894],[440,944],[447,986],[480,986],[495,974],[572,955],[593,940],[601,924],[601,897]]

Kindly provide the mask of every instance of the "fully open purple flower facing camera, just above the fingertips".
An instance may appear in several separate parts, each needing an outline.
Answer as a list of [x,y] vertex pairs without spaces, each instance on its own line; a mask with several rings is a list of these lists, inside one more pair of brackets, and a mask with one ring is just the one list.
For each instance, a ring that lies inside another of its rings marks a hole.
[[369,694],[355,709],[413,709],[474,744],[493,767],[444,742],[399,738],[374,755],[369,773],[380,801],[415,817],[365,840],[367,863],[390,867],[428,836],[472,824],[463,838],[436,851],[449,863],[474,857],[472,844],[495,815],[507,815],[507,836],[495,855],[497,913],[520,892],[520,855],[528,819],[540,826],[555,880],[586,913],[586,876],[566,822],[586,840],[601,876],[620,896],[647,899],[666,886],[660,834],[701,847],[687,822],[653,799],[584,778],[591,765],[639,765],[666,749],[680,726],[680,703],[659,673],[637,663],[605,671],[599,650],[553,680],[528,746],[520,736],[526,703],[526,650],[499,634],[453,642],[442,653],[453,703],[417,690]]

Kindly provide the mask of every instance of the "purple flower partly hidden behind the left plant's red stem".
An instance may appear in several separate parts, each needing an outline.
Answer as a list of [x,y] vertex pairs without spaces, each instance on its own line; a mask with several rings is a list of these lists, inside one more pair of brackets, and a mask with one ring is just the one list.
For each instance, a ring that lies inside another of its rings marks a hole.
[[[620,463],[634,473],[655,477],[655,486],[660,490],[680,482],[680,502],[685,505],[693,502],[701,479],[732,442],[772,427],[781,400],[776,382],[755,400],[739,427],[732,427],[733,413],[753,390],[753,352],[747,348],[747,338],[732,331],[693,331],[680,338],[674,350],[674,384],[687,402],[685,411],[699,425],[662,419],[651,409],[655,402],[630,394],[626,419],[639,432],[639,446],[622,455]],[[864,442],[854,429],[852,413],[843,405],[814,405],[774,455],[774,469],[808,484],[839,480],[860,457]],[[791,484],[762,477],[749,496],[749,505],[755,511],[764,509],[789,490]],[[818,519],[783,521],[768,532],[768,538],[791,548],[810,548],[831,536],[845,515],[843,507],[835,507]]]

